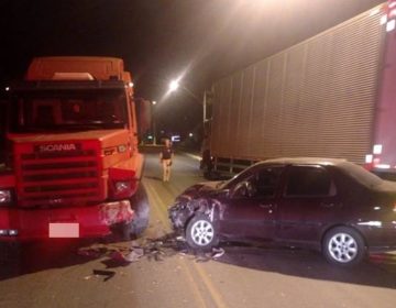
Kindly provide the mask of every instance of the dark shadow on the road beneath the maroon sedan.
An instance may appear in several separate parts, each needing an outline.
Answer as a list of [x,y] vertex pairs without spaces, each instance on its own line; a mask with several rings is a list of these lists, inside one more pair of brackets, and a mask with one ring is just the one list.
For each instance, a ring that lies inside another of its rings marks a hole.
[[273,246],[223,245],[219,262],[310,279],[396,288],[396,255],[371,255],[352,268],[326,262],[319,252]]

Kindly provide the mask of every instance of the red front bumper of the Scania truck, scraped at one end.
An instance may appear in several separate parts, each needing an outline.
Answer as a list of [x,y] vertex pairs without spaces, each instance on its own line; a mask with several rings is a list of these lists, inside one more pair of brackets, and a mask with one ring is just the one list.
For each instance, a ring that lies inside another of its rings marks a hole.
[[73,208],[0,208],[0,241],[103,237],[112,226],[133,218],[129,200]]

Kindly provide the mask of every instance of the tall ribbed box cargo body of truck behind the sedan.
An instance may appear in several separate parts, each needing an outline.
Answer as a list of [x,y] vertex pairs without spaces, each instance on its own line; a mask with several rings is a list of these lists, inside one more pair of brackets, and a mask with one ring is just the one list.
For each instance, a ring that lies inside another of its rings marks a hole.
[[312,156],[395,172],[395,23],[388,1],[216,81],[204,101],[213,170]]

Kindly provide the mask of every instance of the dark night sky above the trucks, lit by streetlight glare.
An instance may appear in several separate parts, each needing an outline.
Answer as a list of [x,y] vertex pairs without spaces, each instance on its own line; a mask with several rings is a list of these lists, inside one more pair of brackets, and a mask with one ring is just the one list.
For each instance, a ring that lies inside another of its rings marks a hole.
[[[117,56],[135,95],[160,100],[170,79],[201,97],[211,82],[360,12],[378,0],[1,0],[0,84],[34,56]],[[201,106],[179,90],[160,125],[193,130]]]

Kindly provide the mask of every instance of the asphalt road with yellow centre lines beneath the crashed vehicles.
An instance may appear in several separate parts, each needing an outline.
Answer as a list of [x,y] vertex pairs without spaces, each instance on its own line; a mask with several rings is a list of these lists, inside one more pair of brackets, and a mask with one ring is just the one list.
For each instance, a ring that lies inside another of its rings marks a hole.
[[[19,263],[1,251],[0,307],[395,307],[393,255],[342,270],[304,250],[227,244],[217,260],[185,253],[168,235],[167,207],[202,180],[197,166],[177,155],[163,183],[157,156],[146,156],[151,221],[143,239],[35,243]],[[136,262],[120,257],[142,246]]]

